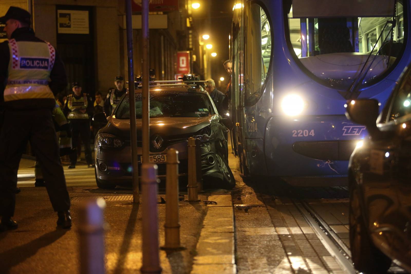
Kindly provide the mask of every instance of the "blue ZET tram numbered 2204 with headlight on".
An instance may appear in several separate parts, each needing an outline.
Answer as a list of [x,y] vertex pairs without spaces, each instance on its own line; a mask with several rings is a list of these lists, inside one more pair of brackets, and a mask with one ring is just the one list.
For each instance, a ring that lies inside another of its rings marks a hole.
[[230,111],[242,173],[344,178],[367,135],[344,104],[382,109],[411,60],[410,14],[409,0],[237,0]]

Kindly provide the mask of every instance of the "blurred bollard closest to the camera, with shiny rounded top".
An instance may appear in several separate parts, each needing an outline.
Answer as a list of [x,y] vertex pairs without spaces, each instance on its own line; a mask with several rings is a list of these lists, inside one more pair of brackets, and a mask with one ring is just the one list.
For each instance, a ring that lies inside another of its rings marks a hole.
[[80,274],[103,274],[104,216],[106,202],[102,198],[90,199],[79,210]]

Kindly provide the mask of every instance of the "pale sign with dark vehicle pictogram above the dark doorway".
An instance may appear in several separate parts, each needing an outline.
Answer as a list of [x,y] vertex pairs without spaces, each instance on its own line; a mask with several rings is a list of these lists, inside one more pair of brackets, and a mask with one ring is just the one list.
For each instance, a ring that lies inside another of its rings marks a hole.
[[57,10],[57,32],[69,34],[89,34],[88,11]]

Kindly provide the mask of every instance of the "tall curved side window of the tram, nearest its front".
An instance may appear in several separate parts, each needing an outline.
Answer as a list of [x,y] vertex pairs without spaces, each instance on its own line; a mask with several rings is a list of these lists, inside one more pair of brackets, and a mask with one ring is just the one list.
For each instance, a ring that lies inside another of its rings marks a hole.
[[271,58],[271,28],[264,9],[248,2],[244,8],[244,105],[252,106],[263,93]]

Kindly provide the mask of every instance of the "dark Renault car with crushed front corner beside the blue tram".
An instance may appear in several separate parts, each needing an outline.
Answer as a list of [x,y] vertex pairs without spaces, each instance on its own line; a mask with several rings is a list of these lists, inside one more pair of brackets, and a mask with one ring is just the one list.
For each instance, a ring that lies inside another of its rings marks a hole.
[[[136,127],[141,169],[141,88],[136,89]],[[95,139],[95,175],[99,188],[132,184],[129,92],[108,121],[104,114],[94,120],[104,123]],[[229,118],[222,118],[210,95],[201,85],[159,84],[150,86],[150,163],[158,166],[159,179],[165,179],[167,151],[178,151],[180,179],[187,178],[189,137],[201,141],[201,169],[204,186],[231,189],[235,179],[228,165],[227,132]]]

